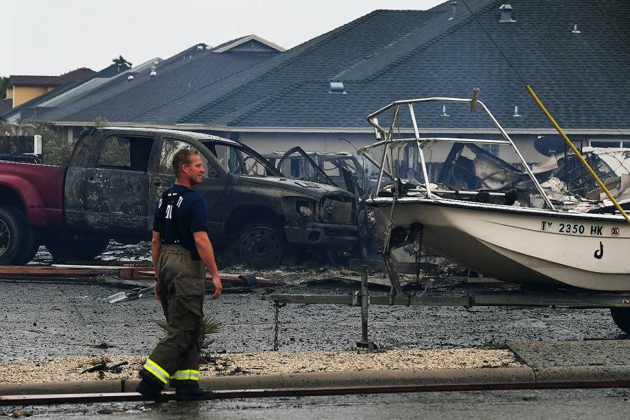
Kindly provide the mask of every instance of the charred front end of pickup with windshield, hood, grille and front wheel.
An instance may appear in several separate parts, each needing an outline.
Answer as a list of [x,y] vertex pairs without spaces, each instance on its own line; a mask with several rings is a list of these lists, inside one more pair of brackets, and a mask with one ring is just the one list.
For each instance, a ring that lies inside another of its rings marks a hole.
[[297,252],[305,247],[346,252],[359,248],[351,193],[288,179],[259,153],[232,140],[214,137],[201,144],[227,177],[225,214],[216,237],[236,245],[242,262],[275,266],[287,245]]

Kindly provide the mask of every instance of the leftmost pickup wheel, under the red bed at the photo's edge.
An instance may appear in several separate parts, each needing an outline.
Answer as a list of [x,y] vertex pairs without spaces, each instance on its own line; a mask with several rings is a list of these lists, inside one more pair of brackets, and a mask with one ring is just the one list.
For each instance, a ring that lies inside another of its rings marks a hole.
[[0,206],[0,265],[22,265],[33,258],[35,234],[22,212]]

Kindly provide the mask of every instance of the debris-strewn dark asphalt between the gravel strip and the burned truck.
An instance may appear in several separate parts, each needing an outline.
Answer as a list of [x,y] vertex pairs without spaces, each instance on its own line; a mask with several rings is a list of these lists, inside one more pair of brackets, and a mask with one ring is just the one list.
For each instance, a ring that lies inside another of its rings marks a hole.
[[[0,281],[0,362],[90,355],[148,354],[161,336],[155,299],[110,304],[115,286]],[[347,287],[281,286],[279,293],[350,293]],[[261,289],[207,299],[205,314],[225,325],[216,351],[273,349],[273,304]],[[288,305],[280,310],[279,349],[355,348],[360,308]],[[385,348],[505,345],[514,341],[627,338],[608,310],[371,306],[370,338]]]

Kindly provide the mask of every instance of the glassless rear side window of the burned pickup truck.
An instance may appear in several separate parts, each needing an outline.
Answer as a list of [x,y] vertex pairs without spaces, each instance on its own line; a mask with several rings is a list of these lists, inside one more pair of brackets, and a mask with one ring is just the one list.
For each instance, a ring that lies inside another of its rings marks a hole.
[[155,143],[153,137],[121,136],[118,134],[108,136],[101,144],[96,166],[123,171],[147,172],[153,143]]

